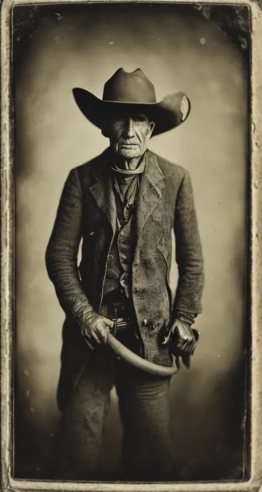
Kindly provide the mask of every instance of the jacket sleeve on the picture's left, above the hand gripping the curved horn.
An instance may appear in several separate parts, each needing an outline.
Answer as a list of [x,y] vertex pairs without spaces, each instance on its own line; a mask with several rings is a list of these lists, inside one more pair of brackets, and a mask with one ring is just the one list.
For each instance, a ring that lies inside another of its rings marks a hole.
[[70,171],[60,198],[46,251],[49,278],[65,314],[80,329],[85,313],[93,310],[80,283],[77,254],[82,236],[82,189],[76,169]]

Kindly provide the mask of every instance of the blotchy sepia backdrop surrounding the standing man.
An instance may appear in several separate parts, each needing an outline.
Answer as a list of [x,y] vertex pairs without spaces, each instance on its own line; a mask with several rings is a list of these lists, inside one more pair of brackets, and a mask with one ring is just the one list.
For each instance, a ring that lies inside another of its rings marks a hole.
[[[190,370],[182,367],[171,384],[173,479],[243,478],[246,61],[193,6],[167,4],[15,8],[14,51],[15,477],[51,478],[64,314],[45,251],[69,171],[108,145],[72,89],[102,97],[105,81],[123,67],[141,68],[158,100],[182,90],[191,101],[188,120],[148,145],[190,173],[205,260],[195,323],[201,341]],[[173,292],[176,282],[173,264]],[[121,446],[114,391],[105,446],[111,480]]]

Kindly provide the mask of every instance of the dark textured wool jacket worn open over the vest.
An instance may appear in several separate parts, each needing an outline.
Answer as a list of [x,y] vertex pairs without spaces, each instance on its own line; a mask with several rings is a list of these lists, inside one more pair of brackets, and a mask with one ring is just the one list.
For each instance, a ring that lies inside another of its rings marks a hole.
[[[99,312],[108,255],[116,228],[110,149],[73,169],[65,182],[46,253],[47,270],[66,314],[63,326],[58,403],[68,399],[90,353],[81,333],[84,313]],[[177,312],[200,313],[203,257],[188,172],[148,151],[141,175],[135,220],[133,302],[144,357],[170,365],[159,344],[162,329]],[[171,230],[176,237],[179,281],[171,306]],[[82,259],[77,253],[82,238]],[[80,276],[80,277],[79,277]]]

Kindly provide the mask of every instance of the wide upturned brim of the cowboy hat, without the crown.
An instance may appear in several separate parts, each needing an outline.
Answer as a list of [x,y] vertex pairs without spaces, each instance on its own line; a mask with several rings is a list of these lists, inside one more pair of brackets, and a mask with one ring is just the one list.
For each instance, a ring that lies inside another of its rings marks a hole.
[[190,113],[190,101],[184,92],[176,92],[166,96],[159,103],[122,103],[119,101],[105,101],[94,96],[85,89],[74,88],[73,95],[76,104],[83,115],[102,130],[103,117],[117,116],[132,112],[144,114],[155,122],[152,136],[167,132],[183,123]]

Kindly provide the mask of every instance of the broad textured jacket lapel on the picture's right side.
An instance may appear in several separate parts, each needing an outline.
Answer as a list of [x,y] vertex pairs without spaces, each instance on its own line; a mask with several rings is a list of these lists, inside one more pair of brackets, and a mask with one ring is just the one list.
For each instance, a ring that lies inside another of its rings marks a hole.
[[164,179],[165,177],[158,165],[157,157],[148,151],[145,170],[141,175],[139,184],[136,206],[138,236],[163,194],[163,188],[165,188]]

